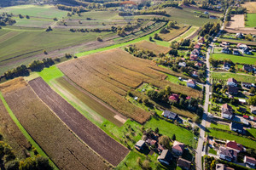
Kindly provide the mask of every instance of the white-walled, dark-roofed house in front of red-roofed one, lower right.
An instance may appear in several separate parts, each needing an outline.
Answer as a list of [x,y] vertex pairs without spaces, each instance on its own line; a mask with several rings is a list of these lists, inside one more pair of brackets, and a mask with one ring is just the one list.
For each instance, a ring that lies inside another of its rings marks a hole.
[[237,158],[236,150],[230,150],[224,146],[219,147],[218,155],[220,159],[223,159],[226,161],[236,161],[236,158]]

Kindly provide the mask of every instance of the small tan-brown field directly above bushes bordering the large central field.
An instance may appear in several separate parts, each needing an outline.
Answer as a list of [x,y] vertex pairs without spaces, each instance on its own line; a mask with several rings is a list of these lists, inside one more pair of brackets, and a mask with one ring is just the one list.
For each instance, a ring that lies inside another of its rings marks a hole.
[[137,43],[134,43],[134,45],[137,47],[137,48],[141,48],[145,51],[152,51],[154,54],[167,54],[171,48],[166,48],[164,46],[160,46],[160,45],[157,45],[153,42],[148,42],[148,41],[141,41],[141,42],[137,42]]

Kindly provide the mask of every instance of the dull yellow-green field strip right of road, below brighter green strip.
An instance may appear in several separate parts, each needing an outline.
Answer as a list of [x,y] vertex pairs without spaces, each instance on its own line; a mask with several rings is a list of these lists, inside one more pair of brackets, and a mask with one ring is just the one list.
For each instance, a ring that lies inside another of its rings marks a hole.
[[233,77],[238,82],[251,82],[251,83],[254,83],[256,78],[249,75],[242,75],[242,74],[240,75],[240,74],[231,73],[231,72],[222,72],[222,73],[212,72],[211,76],[212,76],[212,79],[221,79],[221,80],[228,80],[230,77]]

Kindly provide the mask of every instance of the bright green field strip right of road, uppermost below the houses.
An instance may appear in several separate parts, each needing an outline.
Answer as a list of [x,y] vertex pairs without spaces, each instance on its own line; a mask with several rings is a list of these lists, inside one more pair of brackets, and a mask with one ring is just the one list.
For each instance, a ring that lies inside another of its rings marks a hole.
[[233,54],[212,54],[213,59],[231,59],[233,63],[240,63],[240,64],[247,64],[251,65],[252,63],[256,62],[256,57],[253,55],[241,56],[241,55],[233,55]]

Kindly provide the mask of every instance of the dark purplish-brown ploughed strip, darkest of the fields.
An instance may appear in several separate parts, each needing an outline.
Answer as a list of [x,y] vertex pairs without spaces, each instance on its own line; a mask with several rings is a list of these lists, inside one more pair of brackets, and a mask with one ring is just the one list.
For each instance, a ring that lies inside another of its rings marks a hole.
[[128,154],[129,150],[125,146],[109,137],[101,128],[81,115],[65,99],[56,94],[41,77],[30,81],[29,85],[73,133],[76,133],[85,144],[88,144],[92,150],[112,165],[117,166]]

